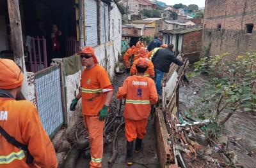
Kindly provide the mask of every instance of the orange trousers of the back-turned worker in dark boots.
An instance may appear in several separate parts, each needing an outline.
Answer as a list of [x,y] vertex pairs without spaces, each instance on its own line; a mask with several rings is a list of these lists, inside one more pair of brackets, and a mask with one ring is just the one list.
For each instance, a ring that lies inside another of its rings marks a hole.
[[143,139],[146,135],[148,118],[143,120],[129,120],[125,118],[125,138],[126,141],[133,141],[137,137]]

